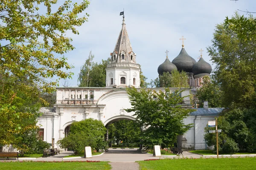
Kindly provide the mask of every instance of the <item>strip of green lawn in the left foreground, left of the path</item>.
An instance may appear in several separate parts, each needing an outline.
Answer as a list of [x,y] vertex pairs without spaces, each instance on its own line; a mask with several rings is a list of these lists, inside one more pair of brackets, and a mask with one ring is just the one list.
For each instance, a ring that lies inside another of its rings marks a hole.
[[108,162],[0,162],[1,170],[110,170]]

